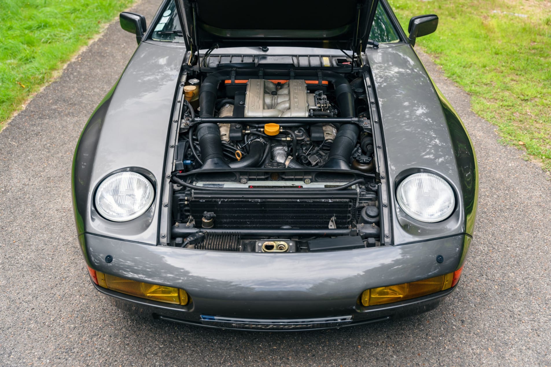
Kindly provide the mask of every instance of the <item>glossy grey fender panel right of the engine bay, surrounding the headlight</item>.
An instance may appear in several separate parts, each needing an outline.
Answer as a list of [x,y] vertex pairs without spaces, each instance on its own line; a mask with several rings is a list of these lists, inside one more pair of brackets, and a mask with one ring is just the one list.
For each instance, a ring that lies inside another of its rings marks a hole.
[[[464,232],[460,177],[449,126],[440,98],[417,54],[409,45],[366,51],[379,102],[393,207],[395,244]],[[444,177],[453,187],[456,211],[439,223],[421,223],[396,203],[401,178],[420,170]]]

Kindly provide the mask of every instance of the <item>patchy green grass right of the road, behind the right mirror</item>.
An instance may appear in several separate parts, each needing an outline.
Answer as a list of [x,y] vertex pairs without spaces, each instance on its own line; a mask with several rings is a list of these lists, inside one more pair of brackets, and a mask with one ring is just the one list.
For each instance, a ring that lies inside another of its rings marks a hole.
[[472,96],[473,111],[495,124],[505,143],[551,169],[551,2],[390,3],[406,30],[413,15],[439,16],[436,32],[417,45]]

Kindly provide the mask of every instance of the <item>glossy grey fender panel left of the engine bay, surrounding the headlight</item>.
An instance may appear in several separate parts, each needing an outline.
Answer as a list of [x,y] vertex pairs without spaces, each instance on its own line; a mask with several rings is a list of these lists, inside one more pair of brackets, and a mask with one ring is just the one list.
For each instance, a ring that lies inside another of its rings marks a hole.
[[[86,133],[77,145],[73,167],[75,217],[80,232],[111,233],[156,244],[157,199],[161,196],[172,104],[184,54],[181,48],[142,42],[110,95],[84,128]],[[90,149],[94,144],[95,154]],[[106,174],[128,167],[137,167],[152,180],[155,201],[137,220],[107,221],[95,210],[95,188]],[[86,194],[87,197],[79,196]]]

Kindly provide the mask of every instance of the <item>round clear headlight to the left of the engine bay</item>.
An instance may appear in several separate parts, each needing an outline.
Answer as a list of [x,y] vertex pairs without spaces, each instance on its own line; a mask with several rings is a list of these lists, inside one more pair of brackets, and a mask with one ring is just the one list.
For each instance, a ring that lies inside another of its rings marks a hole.
[[96,209],[115,222],[133,220],[153,203],[153,185],[136,172],[120,172],[107,177],[96,191]]

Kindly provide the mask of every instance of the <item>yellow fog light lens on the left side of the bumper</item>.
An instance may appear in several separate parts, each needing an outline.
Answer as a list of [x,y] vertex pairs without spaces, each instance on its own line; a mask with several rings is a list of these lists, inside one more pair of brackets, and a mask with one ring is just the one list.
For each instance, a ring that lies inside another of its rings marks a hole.
[[96,276],[98,277],[98,285],[111,289],[111,291],[117,291],[154,301],[180,305],[186,305],[190,302],[190,297],[183,289],[136,282],[99,271],[96,271]]

